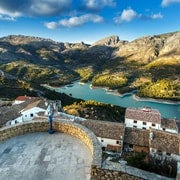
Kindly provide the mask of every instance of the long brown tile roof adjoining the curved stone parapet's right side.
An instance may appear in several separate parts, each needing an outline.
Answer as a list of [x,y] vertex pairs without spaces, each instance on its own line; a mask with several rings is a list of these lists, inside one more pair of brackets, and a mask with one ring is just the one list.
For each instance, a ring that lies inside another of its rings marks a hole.
[[121,136],[124,136],[125,126],[121,123],[97,120],[85,120],[78,123],[86,126],[98,137],[120,140]]

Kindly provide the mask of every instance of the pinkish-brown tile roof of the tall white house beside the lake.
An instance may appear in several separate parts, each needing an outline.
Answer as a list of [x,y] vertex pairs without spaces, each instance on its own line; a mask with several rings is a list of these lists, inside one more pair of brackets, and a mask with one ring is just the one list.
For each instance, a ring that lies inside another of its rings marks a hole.
[[127,108],[125,118],[161,124],[161,114],[150,108]]

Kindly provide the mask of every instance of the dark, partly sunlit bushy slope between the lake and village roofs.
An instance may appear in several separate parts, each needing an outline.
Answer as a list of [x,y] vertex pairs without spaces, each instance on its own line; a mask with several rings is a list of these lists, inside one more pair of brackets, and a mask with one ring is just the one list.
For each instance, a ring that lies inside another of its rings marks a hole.
[[93,100],[75,102],[65,106],[64,111],[83,118],[113,122],[123,122],[125,114],[125,108]]

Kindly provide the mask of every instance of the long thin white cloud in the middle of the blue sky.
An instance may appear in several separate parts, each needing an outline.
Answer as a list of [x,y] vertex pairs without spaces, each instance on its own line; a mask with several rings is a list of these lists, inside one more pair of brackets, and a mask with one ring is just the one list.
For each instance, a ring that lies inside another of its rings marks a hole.
[[103,22],[103,17],[96,15],[96,14],[85,14],[82,16],[75,16],[71,17],[69,19],[62,19],[59,22],[48,22],[44,25],[49,29],[56,29],[58,27],[64,26],[64,27],[76,27],[81,26],[85,23],[93,22],[93,23],[101,23]]

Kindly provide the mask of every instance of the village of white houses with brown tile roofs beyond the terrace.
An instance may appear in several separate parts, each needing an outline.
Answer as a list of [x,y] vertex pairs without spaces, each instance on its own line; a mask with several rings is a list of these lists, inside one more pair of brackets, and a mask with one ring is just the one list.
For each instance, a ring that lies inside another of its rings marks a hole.
[[124,123],[106,122],[76,117],[63,112],[61,101],[19,96],[12,104],[0,101],[0,127],[49,117],[53,105],[53,120],[79,123],[97,136],[104,151],[145,152],[161,162],[174,160],[180,171],[180,121],[164,119],[156,109],[127,108]]

